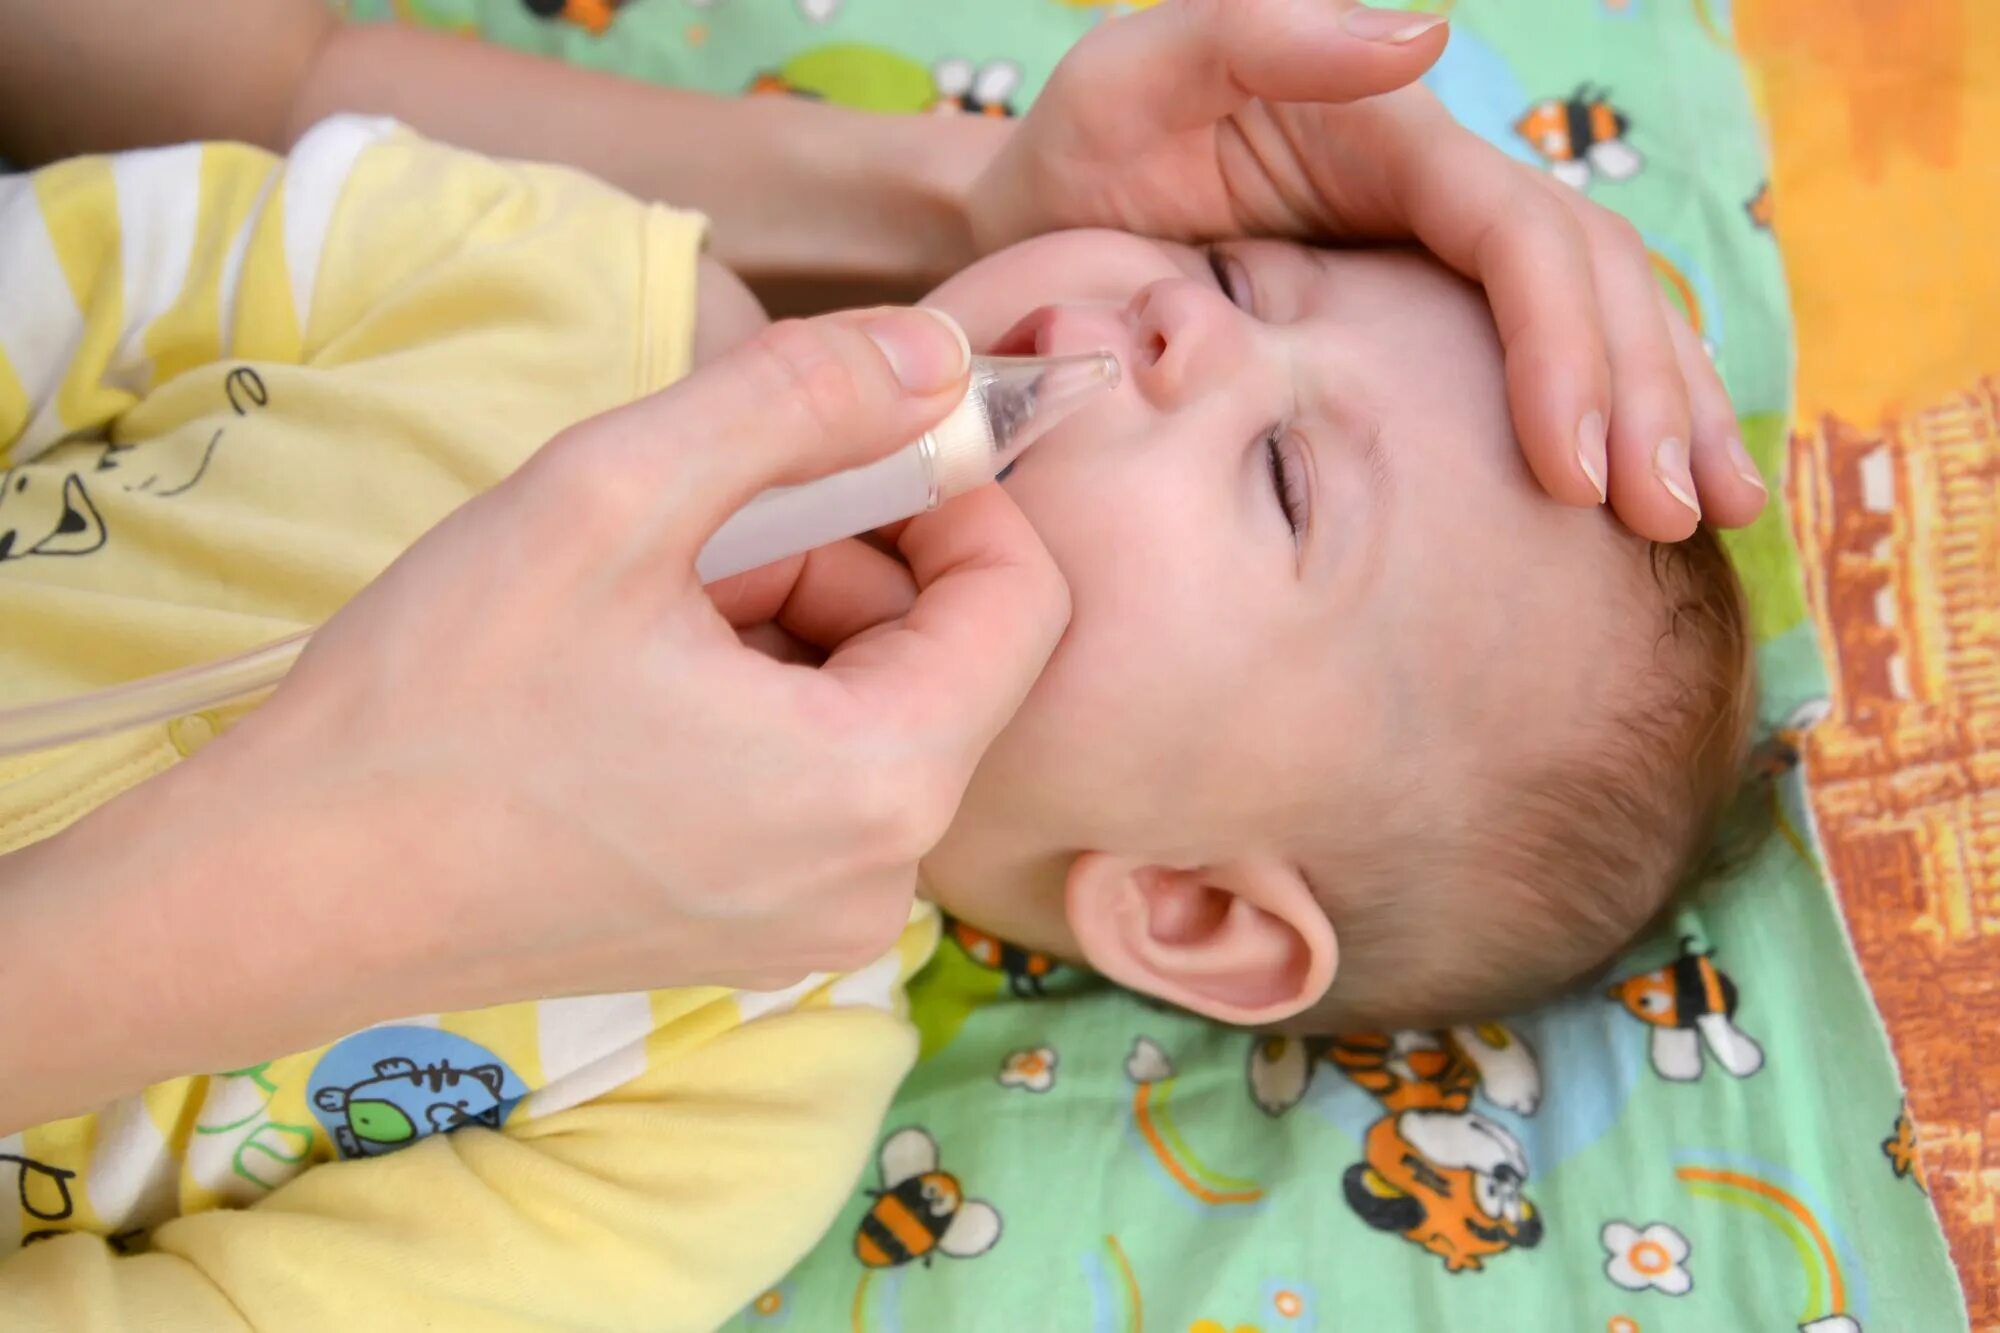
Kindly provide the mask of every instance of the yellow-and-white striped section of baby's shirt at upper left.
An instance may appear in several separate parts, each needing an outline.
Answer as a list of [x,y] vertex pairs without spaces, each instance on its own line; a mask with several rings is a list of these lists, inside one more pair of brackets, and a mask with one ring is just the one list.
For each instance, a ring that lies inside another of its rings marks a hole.
[[0,464],[102,434],[232,348],[296,360],[334,202],[392,132],[350,118],[290,160],[180,144],[0,178]]

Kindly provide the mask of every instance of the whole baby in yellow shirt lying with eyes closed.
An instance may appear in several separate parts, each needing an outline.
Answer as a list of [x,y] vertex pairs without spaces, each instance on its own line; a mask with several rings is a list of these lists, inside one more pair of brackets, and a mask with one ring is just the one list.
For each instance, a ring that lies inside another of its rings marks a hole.
[[[64,164],[0,182],[0,222],[42,332],[0,346],[4,703],[322,620],[562,426],[764,322],[698,220],[380,122],[290,162]],[[1706,534],[1648,548],[1536,490],[1474,290],[1072,232],[932,302],[978,348],[1126,374],[1006,482],[1074,616],[928,899],[1308,1029],[1548,995],[1660,909],[1736,771],[1738,592]],[[10,767],[0,853],[228,723]],[[384,1013],[0,1139],[0,1247],[38,1241],[0,1325],[714,1325],[852,1189],[934,941],[920,907],[880,965],[776,995]]]

